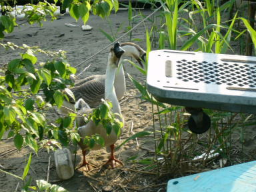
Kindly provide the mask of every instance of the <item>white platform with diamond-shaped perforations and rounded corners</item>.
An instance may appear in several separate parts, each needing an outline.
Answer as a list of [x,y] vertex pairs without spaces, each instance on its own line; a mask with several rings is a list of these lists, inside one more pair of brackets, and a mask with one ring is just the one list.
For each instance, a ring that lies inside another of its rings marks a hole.
[[256,113],[256,57],[151,51],[147,88],[165,103]]

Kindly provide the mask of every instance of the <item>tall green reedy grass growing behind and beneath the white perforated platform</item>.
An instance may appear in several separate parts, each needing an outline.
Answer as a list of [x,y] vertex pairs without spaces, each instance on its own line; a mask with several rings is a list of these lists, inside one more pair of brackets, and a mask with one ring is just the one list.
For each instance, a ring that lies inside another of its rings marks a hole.
[[[219,5],[217,1],[219,6],[216,7],[216,2],[209,0],[191,0],[185,3],[175,0],[162,2],[163,11],[157,17],[163,17],[164,25],[155,27],[155,23],[152,23],[151,31],[146,29],[147,61],[151,49],[235,53],[237,50],[232,47],[232,43],[245,36],[245,31],[251,34],[256,47],[256,32],[247,19],[239,17],[239,12],[236,12],[231,20],[227,19],[225,10],[232,7],[233,3],[235,0]],[[243,22],[245,30],[237,27],[239,21]],[[159,34],[158,47],[152,46],[154,41],[152,34],[155,32]],[[178,45],[179,42],[182,42],[181,45]],[[147,65],[143,71],[144,75],[146,73]],[[145,85],[140,84],[133,77],[130,79],[141,92],[142,98],[152,103],[155,162],[159,174],[186,175],[192,173],[187,170],[195,172],[205,170],[205,167],[219,163],[219,159],[226,159],[225,165],[237,163],[235,160],[237,157],[233,153],[234,143],[237,141],[234,141],[233,136],[241,135],[239,150],[242,151],[243,130],[251,123],[255,123],[255,120],[251,120],[251,115],[205,109],[211,117],[211,129],[203,135],[195,135],[187,128],[189,114],[185,112],[184,107],[159,103],[148,93]],[[209,158],[214,153],[218,154],[218,157]],[[202,154],[204,155],[201,159],[195,159]],[[240,160],[242,162],[245,159]]]

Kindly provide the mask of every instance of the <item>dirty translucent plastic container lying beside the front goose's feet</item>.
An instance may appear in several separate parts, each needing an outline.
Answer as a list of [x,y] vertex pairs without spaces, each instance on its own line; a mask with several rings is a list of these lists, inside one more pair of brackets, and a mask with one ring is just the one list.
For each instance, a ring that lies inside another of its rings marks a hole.
[[69,179],[74,175],[74,167],[69,149],[58,149],[54,153],[54,159],[59,179]]

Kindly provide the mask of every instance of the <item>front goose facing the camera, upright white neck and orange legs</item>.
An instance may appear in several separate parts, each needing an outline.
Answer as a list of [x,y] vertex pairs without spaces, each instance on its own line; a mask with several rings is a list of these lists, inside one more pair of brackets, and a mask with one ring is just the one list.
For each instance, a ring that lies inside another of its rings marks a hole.
[[[106,79],[105,79],[105,97],[104,98],[105,100],[111,101],[113,105],[113,108],[111,110],[113,111],[113,113],[118,113],[119,115],[117,115],[116,118],[119,118],[119,120],[124,123],[124,120],[121,115],[120,105],[119,105],[116,91],[115,91],[115,86],[114,86],[115,78],[117,77],[117,75],[115,74],[117,73],[117,70],[118,70],[117,68],[120,63],[119,60],[120,60],[120,57],[123,56],[123,53],[125,53],[125,51],[120,47],[119,43],[115,43],[114,48],[111,48],[111,51],[108,57],[108,62],[107,62],[107,69],[105,73]],[[91,113],[91,111],[93,110],[93,109],[90,109],[90,107],[85,103],[85,101],[83,101],[83,99],[79,99],[77,103],[75,103],[75,107],[76,108],[81,107],[81,109],[78,111],[79,114],[89,115],[89,113]],[[85,138],[85,136],[91,136],[95,134],[99,134],[101,137],[103,137],[105,141],[105,146],[110,147],[111,149],[111,156],[109,157],[109,161],[107,161],[107,164],[110,164],[113,168],[117,163],[123,165],[121,161],[115,159],[114,147],[115,147],[115,142],[117,141],[118,138],[117,138],[117,134],[115,133],[115,131],[113,131],[113,129],[111,133],[107,135],[107,132],[102,124],[95,125],[93,121],[89,121],[87,124],[85,124],[83,117],[78,117],[76,120],[76,123],[77,123],[77,127],[79,127],[78,133],[81,136],[81,138]],[[83,144],[83,139],[81,139],[81,141],[79,142],[79,146],[81,147],[83,152],[83,163],[81,164],[81,166],[79,166],[79,168],[85,166],[86,169],[89,170],[89,163],[87,163],[85,159],[87,151],[89,151],[89,147]],[[95,145],[92,150],[97,150],[97,149],[101,149],[101,145]]]

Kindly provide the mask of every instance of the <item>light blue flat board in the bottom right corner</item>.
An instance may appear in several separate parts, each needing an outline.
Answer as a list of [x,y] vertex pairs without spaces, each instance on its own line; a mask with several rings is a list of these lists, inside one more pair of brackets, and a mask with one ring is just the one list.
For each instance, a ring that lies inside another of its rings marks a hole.
[[168,181],[167,192],[255,192],[256,161]]

